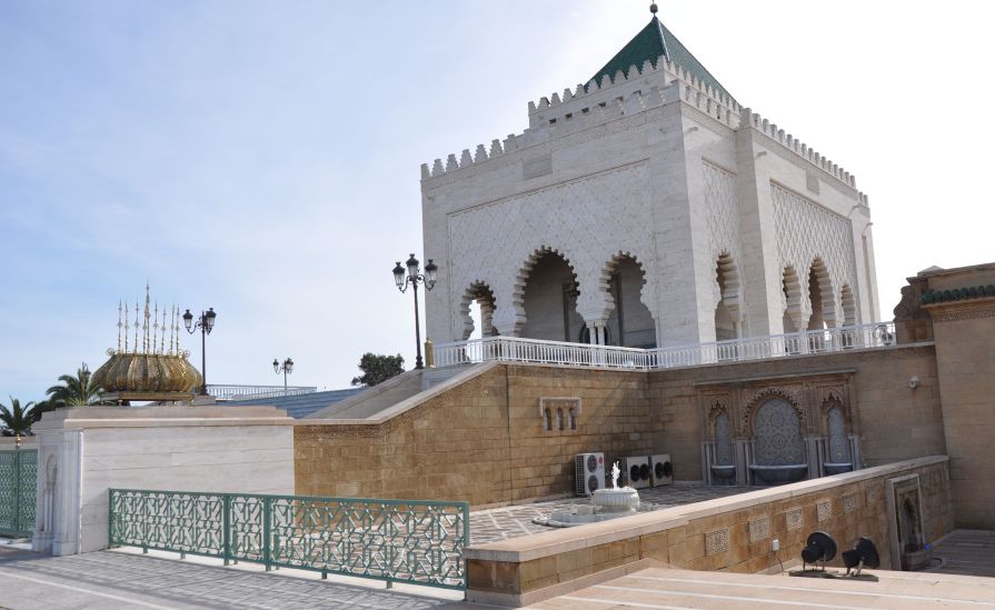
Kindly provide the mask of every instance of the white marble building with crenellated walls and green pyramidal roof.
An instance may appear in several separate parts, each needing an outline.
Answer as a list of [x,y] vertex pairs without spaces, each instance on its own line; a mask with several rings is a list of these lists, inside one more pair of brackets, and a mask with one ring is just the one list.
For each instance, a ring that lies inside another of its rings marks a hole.
[[656,16],[521,134],[421,168],[428,337],[667,347],[875,321],[856,179],[739,103]]

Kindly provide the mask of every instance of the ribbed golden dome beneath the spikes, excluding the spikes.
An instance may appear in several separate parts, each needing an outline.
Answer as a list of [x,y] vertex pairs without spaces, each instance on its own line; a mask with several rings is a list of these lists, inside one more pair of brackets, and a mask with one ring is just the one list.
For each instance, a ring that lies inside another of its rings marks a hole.
[[202,383],[185,353],[112,353],[93,373],[105,392],[187,392]]

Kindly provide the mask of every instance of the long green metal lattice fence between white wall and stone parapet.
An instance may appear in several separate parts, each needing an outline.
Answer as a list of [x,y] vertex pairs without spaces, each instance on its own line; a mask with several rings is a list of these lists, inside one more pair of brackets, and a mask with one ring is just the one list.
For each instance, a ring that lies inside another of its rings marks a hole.
[[467,502],[111,489],[110,544],[465,590]]

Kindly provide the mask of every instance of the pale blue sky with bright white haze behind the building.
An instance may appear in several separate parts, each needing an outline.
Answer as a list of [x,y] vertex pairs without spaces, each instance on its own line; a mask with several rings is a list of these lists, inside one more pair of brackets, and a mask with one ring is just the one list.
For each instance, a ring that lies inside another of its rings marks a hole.
[[[724,87],[856,174],[882,318],[995,260],[989,3],[661,2]],[[0,2],[0,402],[117,342],[119,300],[218,313],[208,382],[414,364],[419,166],[520,133],[649,20],[641,0]],[[431,256],[431,253],[427,253]],[[200,366],[200,338],[183,337]]]

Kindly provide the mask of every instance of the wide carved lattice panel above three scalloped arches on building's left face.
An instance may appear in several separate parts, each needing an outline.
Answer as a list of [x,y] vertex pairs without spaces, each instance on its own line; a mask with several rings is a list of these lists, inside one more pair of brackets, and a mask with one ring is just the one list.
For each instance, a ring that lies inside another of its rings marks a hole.
[[[549,249],[577,276],[577,312],[587,322],[607,320],[614,307],[608,269],[623,252],[643,266],[641,301],[656,317],[660,271],[653,231],[647,230],[653,206],[646,183],[646,164],[638,163],[450,214],[452,293],[461,297],[475,282],[489,286],[496,306],[492,323],[501,334],[510,334],[525,323],[528,261],[537,250]],[[450,329],[461,331],[457,304],[450,303]]]

